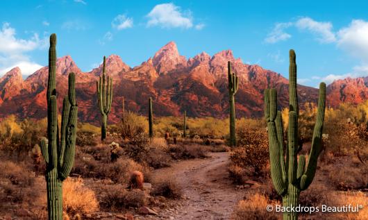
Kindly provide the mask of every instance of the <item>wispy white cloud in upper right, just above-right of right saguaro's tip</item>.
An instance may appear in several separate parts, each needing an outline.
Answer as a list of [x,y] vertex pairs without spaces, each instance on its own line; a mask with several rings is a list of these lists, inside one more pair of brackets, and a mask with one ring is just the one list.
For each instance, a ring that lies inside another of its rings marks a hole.
[[295,26],[301,30],[308,30],[318,35],[317,40],[319,40],[319,42],[331,43],[336,41],[331,22],[316,22],[310,17],[303,17],[296,21]]

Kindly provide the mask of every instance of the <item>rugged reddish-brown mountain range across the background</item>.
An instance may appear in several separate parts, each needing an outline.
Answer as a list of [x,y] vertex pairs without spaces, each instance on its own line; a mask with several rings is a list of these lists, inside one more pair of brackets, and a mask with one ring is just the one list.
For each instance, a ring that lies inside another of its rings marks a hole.
[[[261,117],[263,115],[263,91],[276,87],[279,108],[288,104],[288,81],[274,71],[259,65],[247,65],[234,58],[231,50],[213,56],[205,52],[188,60],[178,53],[174,42],[163,46],[153,58],[136,67],[129,67],[117,55],[106,58],[106,73],[113,78],[113,102],[110,122],[119,121],[124,96],[125,108],[147,115],[149,97],[153,99],[156,116],[179,116],[184,110],[190,117],[228,116],[227,62],[239,77],[239,90],[235,94],[237,117]],[[102,73],[102,65],[89,72],[78,68],[70,56],[57,60],[56,84],[58,107],[67,92],[69,72],[76,74],[78,118],[99,124],[96,81]],[[47,116],[46,90],[48,67],[42,67],[22,78],[18,67],[0,78],[0,117],[14,114],[20,118],[44,118]],[[300,103],[315,102],[318,90],[298,85]],[[368,97],[368,76],[337,80],[327,87],[327,106],[342,102],[360,103]]]

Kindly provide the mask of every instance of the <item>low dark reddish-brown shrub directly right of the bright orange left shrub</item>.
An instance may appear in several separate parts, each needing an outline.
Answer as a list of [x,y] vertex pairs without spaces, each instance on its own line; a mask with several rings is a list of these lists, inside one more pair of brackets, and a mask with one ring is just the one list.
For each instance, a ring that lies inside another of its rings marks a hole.
[[140,208],[147,205],[147,196],[140,189],[125,189],[122,185],[102,185],[103,196],[100,205],[109,211],[122,211],[125,208]]

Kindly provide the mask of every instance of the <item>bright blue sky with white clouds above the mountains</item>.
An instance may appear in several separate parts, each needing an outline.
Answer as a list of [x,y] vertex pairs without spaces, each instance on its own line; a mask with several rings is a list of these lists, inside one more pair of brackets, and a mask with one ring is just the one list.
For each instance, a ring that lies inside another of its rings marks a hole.
[[367,8],[368,1],[3,1],[0,76],[47,65],[56,33],[58,56],[72,56],[83,71],[112,53],[140,65],[174,41],[186,58],[232,49],[287,77],[294,49],[299,83],[315,87],[368,76]]

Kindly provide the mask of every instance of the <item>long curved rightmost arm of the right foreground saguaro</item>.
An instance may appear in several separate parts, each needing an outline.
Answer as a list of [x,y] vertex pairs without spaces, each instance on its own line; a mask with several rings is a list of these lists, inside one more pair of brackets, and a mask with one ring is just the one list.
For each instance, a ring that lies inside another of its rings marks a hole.
[[321,140],[322,130],[324,127],[324,111],[326,107],[326,84],[321,83],[319,85],[319,99],[318,99],[318,110],[317,119],[315,124],[315,130],[313,131],[312,137],[312,148],[310,149],[310,155],[308,157],[308,165],[306,172],[301,177],[301,189],[307,189],[310,183],[312,183],[315,177],[317,169],[317,160],[319,153],[321,152]]

